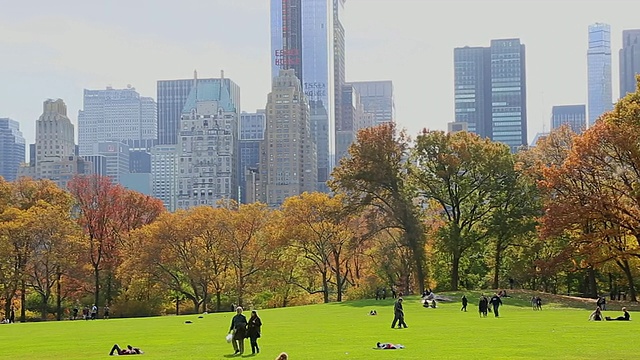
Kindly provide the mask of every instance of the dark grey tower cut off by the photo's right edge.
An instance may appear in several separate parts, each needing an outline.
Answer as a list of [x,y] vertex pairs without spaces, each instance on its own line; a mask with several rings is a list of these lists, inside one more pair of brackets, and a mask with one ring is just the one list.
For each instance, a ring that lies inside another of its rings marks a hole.
[[620,97],[636,91],[640,74],[640,29],[622,32],[620,49]]

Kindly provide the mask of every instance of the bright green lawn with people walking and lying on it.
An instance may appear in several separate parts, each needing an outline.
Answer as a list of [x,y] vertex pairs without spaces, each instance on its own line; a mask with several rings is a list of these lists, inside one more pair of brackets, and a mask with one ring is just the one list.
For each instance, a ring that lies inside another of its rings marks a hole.
[[[529,294],[514,295],[504,299],[500,318],[479,318],[478,293],[468,293],[467,313],[460,312],[458,294],[438,309],[424,309],[417,297],[407,297],[408,329],[390,328],[391,299],[262,310],[261,352],[255,358],[272,360],[281,351],[294,360],[635,359],[640,354],[638,313],[631,312],[630,322],[589,322],[591,304],[547,298],[543,311],[533,311]],[[621,313],[619,305],[609,308],[607,316]],[[368,315],[372,309],[377,316]],[[114,343],[142,348],[145,354],[136,358],[225,359],[233,352],[224,341],[232,315],[0,325],[0,359],[104,359]],[[373,350],[378,341],[406,348]],[[254,358],[250,353],[247,339],[240,358]]]

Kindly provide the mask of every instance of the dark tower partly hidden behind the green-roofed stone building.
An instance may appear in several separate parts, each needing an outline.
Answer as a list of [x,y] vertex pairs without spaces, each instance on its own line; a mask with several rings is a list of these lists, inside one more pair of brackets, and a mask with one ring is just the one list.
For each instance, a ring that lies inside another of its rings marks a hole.
[[182,109],[191,93],[194,79],[197,79],[197,83],[218,84],[223,81],[231,92],[234,104],[240,108],[240,88],[233,81],[225,79],[224,74],[222,75],[222,80],[215,78],[198,79],[198,74],[194,71],[192,79],[159,80],[157,82],[158,144],[175,145],[178,143]]

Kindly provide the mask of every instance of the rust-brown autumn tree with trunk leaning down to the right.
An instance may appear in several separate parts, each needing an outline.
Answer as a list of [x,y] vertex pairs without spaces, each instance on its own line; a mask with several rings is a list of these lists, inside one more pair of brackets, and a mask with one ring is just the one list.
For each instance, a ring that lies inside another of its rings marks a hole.
[[334,169],[329,185],[345,195],[352,212],[378,212],[378,231],[397,229],[409,249],[412,272],[420,292],[425,285],[425,230],[414,188],[407,181],[409,139],[394,123],[360,130],[349,155]]

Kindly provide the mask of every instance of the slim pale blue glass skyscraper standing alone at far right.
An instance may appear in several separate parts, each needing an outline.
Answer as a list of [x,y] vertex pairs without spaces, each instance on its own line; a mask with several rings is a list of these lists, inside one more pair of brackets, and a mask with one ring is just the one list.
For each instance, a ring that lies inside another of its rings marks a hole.
[[611,27],[607,24],[589,25],[587,51],[589,93],[589,126],[600,115],[613,109],[611,94]]

